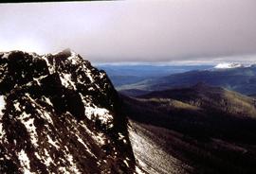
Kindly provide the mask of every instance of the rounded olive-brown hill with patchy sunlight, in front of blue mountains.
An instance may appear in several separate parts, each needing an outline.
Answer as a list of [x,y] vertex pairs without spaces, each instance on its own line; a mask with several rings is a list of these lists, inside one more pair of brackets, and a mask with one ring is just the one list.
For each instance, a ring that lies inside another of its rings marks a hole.
[[189,88],[176,88],[160,92],[152,92],[140,98],[172,98],[192,107],[211,112],[230,113],[239,117],[256,118],[256,100],[236,92],[212,87],[205,83],[197,83]]

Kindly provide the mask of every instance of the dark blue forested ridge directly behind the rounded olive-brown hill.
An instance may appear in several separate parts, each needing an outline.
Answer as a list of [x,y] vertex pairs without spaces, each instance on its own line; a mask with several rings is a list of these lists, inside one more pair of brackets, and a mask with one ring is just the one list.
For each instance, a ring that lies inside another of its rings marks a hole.
[[213,86],[221,86],[245,95],[256,93],[256,66],[231,69],[214,69],[191,71],[158,78],[148,85],[151,90],[163,90],[170,87],[192,86],[204,82]]

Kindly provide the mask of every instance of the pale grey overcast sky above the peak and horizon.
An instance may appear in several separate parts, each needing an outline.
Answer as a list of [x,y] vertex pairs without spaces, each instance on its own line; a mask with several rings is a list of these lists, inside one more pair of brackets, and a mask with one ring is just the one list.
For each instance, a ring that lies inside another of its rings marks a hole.
[[0,51],[89,61],[256,61],[255,0],[0,4]]

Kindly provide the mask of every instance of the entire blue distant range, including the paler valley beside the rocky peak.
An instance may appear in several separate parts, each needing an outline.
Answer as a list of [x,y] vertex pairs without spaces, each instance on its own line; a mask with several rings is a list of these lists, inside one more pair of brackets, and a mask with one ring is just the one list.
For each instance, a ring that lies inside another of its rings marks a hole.
[[146,78],[136,83],[122,85],[118,89],[128,96],[137,96],[155,90],[190,87],[198,82],[220,86],[244,95],[253,95],[256,94],[256,66],[235,65],[232,68],[193,70],[164,77]]

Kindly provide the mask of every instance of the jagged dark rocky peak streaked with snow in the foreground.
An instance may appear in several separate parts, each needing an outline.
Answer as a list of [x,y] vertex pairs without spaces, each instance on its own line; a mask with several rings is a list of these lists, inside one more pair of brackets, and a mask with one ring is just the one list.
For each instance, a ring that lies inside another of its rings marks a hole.
[[133,173],[119,96],[70,49],[0,53],[0,173]]

